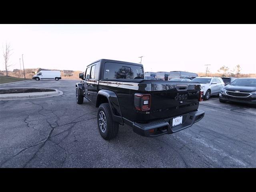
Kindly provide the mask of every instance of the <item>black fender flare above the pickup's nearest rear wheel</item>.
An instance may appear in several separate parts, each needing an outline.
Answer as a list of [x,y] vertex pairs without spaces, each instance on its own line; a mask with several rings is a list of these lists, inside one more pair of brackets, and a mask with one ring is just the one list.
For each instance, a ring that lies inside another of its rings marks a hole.
[[113,120],[123,124],[124,121],[122,118],[122,113],[121,113],[121,109],[120,109],[120,105],[119,105],[116,93],[110,90],[104,90],[104,89],[99,90],[97,94],[97,99],[96,99],[96,107],[100,106],[100,102],[99,102],[100,96],[104,96],[108,99]]

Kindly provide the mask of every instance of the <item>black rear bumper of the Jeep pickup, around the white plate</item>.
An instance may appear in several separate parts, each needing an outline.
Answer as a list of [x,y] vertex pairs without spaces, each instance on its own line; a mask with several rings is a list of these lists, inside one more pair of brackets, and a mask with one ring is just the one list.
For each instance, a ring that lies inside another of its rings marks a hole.
[[[156,120],[146,124],[137,122],[131,123],[135,133],[146,137],[156,137],[163,134],[173,134],[192,126],[195,122],[200,121],[204,117],[204,111],[196,110],[181,116],[183,116],[182,124],[174,127],[172,127],[172,119],[175,117]],[[154,132],[150,132],[152,129],[154,129]]]

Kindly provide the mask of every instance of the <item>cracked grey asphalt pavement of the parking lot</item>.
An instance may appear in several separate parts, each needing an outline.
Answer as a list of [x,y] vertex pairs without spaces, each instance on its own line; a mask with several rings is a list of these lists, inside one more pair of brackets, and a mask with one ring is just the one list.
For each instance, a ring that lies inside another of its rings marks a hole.
[[97,108],[76,104],[80,80],[40,80],[0,88],[56,88],[50,98],[0,101],[2,168],[231,168],[256,167],[256,108],[200,102],[204,118],[192,127],[156,138],[120,126],[104,140],[97,128]]

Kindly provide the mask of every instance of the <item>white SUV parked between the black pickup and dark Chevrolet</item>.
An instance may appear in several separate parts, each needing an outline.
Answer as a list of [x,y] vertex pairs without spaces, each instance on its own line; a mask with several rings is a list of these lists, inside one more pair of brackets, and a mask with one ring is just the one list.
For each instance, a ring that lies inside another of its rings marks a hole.
[[191,82],[198,82],[201,85],[201,91],[204,92],[204,100],[208,100],[211,95],[217,95],[225,86],[220,77],[196,77]]

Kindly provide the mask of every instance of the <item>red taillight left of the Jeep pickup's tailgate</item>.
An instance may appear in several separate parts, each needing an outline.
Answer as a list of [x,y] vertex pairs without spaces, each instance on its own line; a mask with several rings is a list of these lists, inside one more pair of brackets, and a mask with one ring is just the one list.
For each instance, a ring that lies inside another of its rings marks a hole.
[[150,110],[151,95],[135,93],[134,94],[134,106],[137,110],[147,111]]

